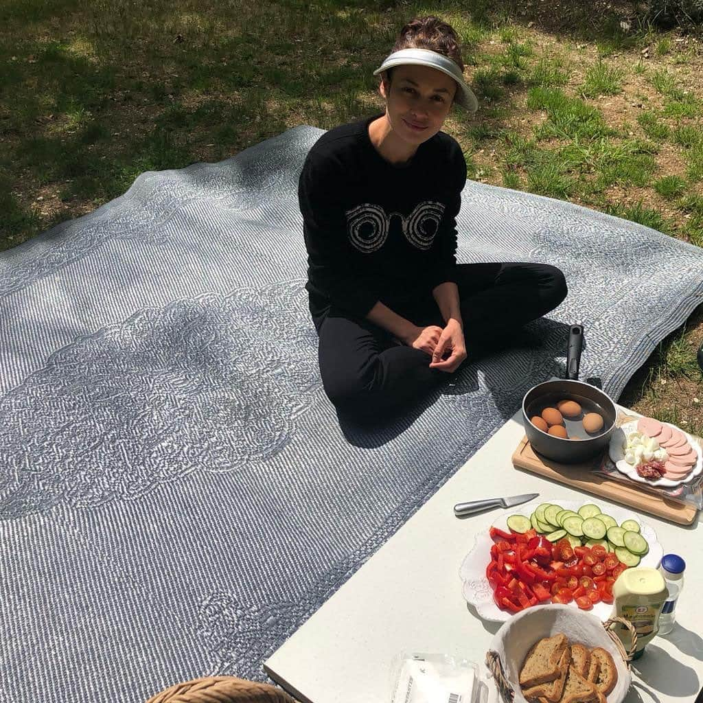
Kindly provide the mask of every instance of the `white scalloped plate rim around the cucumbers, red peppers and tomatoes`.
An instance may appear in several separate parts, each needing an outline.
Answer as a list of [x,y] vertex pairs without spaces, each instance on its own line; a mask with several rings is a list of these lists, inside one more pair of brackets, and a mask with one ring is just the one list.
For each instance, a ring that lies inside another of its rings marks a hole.
[[[477,533],[472,550],[464,557],[461,563],[459,576],[463,582],[462,593],[466,602],[475,607],[481,619],[491,622],[505,622],[511,615],[508,611],[501,610],[494,603],[493,590],[491,589],[488,579],[486,579],[486,567],[491,560],[491,545],[493,544],[493,540],[489,535],[489,529],[491,529],[491,527],[498,527],[498,529],[508,531],[508,523],[505,521],[510,515],[524,515],[525,517],[529,517],[538,505],[550,502],[552,501],[534,501],[532,503],[526,503],[525,505],[519,505],[517,508],[504,510],[500,517],[486,526],[484,530]],[[578,510],[581,505],[591,502],[598,505],[597,500],[555,500],[553,502],[555,505],[561,505],[565,510]],[[608,505],[606,511],[614,520],[617,520],[618,524],[622,524],[625,520],[637,520],[637,522],[640,523],[640,534],[642,534],[650,546],[650,550],[642,557],[640,566],[652,567],[654,569],[659,567],[659,562],[662,560],[662,556],[664,556],[664,550],[662,549],[662,545],[659,544],[659,541],[657,541],[657,533],[654,529],[647,523],[642,522],[640,516],[637,515],[636,512],[631,512],[631,510]],[[532,607],[539,606],[534,605]],[[579,610],[579,606],[576,605],[575,602],[569,603],[569,607],[574,607],[574,609]],[[593,610],[589,610],[588,612],[593,613],[602,620],[607,620],[612,612],[612,605],[602,602],[595,603],[595,605],[593,605]]]

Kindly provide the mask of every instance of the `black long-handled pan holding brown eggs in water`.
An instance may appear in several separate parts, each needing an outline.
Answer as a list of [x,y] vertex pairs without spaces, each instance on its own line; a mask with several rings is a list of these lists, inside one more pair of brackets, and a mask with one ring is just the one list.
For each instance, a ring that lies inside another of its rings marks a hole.
[[[565,464],[575,464],[596,456],[607,449],[610,435],[615,429],[617,410],[615,404],[602,390],[579,381],[579,363],[583,350],[583,327],[572,325],[569,328],[567,345],[567,378],[545,381],[531,388],[522,399],[522,422],[532,449],[548,459]],[[581,418],[565,418],[569,436],[580,439],[562,439],[543,432],[535,427],[530,418],[540,415],[544,408],[555,407],[560,400],[574,400],[584,411],[597,412],[603,418],[603,427],[597,433],[588,434],[583,430]]]

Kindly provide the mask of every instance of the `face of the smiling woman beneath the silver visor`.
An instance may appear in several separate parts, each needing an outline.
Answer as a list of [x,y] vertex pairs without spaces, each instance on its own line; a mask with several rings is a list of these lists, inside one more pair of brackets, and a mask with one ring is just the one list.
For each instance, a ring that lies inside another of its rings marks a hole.
[[394,68],[391,83],[382,81],[388,120],[404,141],[418,146],[437,134],[458,86],[446,73],[429,66]]

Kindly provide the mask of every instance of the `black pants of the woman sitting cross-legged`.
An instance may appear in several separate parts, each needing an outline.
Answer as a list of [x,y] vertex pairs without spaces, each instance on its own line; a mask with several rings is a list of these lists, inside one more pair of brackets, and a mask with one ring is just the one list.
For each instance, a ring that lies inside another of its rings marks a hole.
[[[567,295],[563,273],[548,264],[461,264],[457,285],[467,359],[509,339],[516,328],[557,307]],[[389,302],[415,325],[444,327],[432,295]],[[378,325],[332,307],[314,316],[323,386],[337,410],[357,419],[388,417],[449,378],[430,356],[401,344]]]

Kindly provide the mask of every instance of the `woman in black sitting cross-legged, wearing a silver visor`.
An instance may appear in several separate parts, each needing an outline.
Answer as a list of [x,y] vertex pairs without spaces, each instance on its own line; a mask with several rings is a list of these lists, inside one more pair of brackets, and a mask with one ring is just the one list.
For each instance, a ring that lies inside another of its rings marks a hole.
[[323,386],[359,419],[402,412],[567,295],[548,264],[456,264],[466,162],[440,129],[477,102],[451,26],[409,22],[378,74],[385,112],[325,132],[298,191]]

